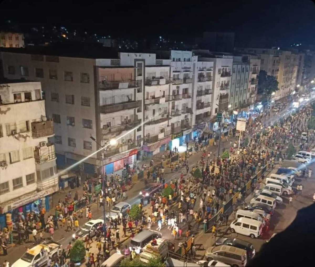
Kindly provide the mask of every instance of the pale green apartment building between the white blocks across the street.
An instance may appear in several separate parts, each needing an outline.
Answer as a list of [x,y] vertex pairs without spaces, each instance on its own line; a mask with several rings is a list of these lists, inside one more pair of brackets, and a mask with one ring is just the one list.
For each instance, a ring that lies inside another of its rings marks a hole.
[[248,56],[234,56],[232,66],[232,83],[229,103],[231,108],[242,108],[247,105],[247,91],[249,83],[253,85],[258,80],[251,80],[250,61]]

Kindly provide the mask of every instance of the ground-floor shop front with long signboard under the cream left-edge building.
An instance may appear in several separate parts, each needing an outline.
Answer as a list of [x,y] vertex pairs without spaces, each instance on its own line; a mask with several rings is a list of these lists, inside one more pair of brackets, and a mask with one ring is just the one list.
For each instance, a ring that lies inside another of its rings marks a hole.
[[25,217],[32,212],[39,213],[41,208],[49,211],[52,194],[58,189],[58,185],[56,185],[46,190],[20,196],[7,203],[1,203],[0,228],[11,226],[12,221],[17,219],[18,216]]

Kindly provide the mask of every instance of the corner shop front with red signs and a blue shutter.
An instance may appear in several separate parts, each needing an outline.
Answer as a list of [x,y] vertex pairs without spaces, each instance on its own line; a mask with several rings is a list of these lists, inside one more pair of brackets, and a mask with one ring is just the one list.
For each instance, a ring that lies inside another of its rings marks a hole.
[[123,169],[126,164],[135,164],[137,162],[137,153],[138,149],[132,149],[104,159],[104,172],[107,174],[114,173]]

